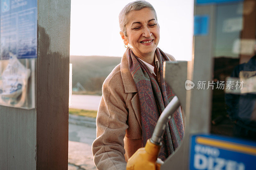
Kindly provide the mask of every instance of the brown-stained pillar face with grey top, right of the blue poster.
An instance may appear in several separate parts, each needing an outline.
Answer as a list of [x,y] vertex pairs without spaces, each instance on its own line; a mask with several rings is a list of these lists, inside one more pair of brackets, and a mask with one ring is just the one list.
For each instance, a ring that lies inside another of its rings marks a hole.
[[36,169],[68,169],[70,0],[38,1]]

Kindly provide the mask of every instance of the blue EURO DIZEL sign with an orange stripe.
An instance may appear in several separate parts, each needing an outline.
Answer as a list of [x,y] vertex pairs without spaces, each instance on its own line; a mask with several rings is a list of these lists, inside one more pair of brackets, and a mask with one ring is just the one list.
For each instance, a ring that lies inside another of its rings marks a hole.
[[216,135],[191,137],[190,170],[255,170],[256,143]]

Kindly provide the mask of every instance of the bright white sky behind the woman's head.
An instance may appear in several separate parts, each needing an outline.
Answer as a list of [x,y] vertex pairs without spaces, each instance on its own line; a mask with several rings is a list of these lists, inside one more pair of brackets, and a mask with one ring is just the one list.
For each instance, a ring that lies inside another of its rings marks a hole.
[[[132,1],[71,0],[70,55],[123,56],[118,15]],[[194,1],[148,2],[154,6],[160,25],[158,47],[176,60],[191,60]]]

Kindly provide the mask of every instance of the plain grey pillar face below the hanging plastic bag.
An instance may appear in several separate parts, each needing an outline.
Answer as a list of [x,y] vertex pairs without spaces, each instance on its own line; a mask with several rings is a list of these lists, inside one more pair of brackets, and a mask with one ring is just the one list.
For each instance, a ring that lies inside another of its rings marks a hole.
[[0,169],[36,169],[36,111],[0,106]]

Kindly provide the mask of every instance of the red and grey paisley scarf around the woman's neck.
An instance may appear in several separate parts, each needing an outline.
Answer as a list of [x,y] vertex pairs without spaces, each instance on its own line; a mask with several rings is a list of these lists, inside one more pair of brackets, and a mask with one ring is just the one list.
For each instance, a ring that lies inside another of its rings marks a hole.
[[[163,63],[169,61],[169,58],[159,48],[156,48],[156,56],[159,61],[160,87],[146,65],[133,54],[130,48],[127,49],[129,70],[136,84],[140,100],[143,147],[151,138],[156,122],[164,108],[175,96],[163,78]],[[168,124],[162,140],[163,145],[158,155],[158,158],[163,161],[179,147],[184,136],[180,107],[175,111]]]

